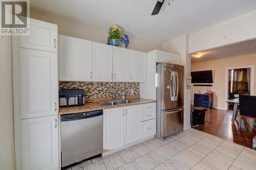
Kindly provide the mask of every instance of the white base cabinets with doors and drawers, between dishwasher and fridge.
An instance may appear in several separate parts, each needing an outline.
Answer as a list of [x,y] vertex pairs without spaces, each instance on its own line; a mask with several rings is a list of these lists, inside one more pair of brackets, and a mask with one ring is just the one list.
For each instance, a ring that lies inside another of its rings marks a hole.
[[143,106],[134,105],[103,110],[103,149],[105,151],[122,148],[156,134],[156,110],[150,111],[153,119],[150,117],[151,119],[147,118],[142,122]]

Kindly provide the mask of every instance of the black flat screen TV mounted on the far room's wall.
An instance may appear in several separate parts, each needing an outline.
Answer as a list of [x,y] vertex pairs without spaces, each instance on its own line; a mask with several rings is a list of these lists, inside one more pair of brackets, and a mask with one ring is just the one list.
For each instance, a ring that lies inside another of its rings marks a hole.
[[191,83],[213,83],[212,82],[212,71],[193,71],[191,72]]

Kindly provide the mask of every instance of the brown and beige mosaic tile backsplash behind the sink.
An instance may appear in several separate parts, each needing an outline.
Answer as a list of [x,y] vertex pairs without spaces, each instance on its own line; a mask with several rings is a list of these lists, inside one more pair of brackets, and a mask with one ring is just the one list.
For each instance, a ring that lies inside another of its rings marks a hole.
[[140,83],[134,82],[59,82],[59,89],[80,88],[84,90],[85,98],[105,98],[111,94],[133,95],[140,94]]

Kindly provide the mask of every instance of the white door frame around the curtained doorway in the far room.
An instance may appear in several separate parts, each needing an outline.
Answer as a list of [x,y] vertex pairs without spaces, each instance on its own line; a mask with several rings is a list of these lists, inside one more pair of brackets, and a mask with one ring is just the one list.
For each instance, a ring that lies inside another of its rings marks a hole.
[[251,77],[250,77],[250,95],[254,95],[254,65],[245,65],[245,66],[238,66],[238,67],[226,67],[226,78],[225,78],[225,110],[228,110],[228,103],[226,100],[228,100],[228,70],[229,69],[240,69],[240,68],[250,68],[251,69]]

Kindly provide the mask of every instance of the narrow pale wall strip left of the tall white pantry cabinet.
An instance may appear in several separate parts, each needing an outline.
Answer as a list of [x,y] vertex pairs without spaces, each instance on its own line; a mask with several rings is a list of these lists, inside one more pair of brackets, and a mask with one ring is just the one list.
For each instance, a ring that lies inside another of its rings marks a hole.
[[11,36],[0,37],[0,169],[14,170],[14,128],[12,95]]

